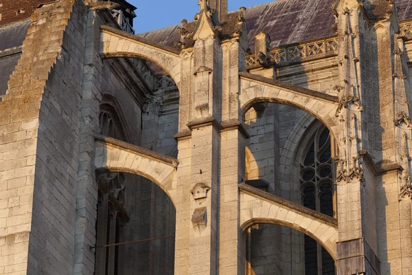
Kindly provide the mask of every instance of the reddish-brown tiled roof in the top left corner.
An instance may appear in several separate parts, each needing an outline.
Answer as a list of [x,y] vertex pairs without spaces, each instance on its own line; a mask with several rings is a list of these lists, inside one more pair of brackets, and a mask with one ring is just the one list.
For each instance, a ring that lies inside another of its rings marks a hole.
[[0,0],[0,27],[29,18],[41,3],[52,0]]

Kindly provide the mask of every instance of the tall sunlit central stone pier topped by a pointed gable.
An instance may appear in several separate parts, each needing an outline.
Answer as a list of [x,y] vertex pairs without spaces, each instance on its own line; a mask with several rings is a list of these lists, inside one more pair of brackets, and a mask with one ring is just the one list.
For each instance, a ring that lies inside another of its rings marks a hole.
[[[205,5],[202,6],[205,9]],[[193,54],[182,56],[183,109],[179,110],[179,169],[176,202],[177,274],[217,273],[220,47],[206,10],[194,37]],[[209,21],[209,22],[208,22]],[[207,25],[206,25],[207,24]],[[181,104],[182,106],[182,104]]]

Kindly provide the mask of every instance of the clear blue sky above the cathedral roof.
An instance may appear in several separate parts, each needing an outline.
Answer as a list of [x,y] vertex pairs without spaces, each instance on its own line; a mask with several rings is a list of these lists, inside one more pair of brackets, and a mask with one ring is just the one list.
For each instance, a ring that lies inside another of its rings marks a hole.
[[[267,3],[271,0],[228,0],[229,10]],[[135,5],[137,17],[134,28],[137,34],[176,25],[182,19],[192,21],[198,12],[198,0],[128,0]]]

